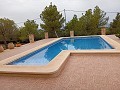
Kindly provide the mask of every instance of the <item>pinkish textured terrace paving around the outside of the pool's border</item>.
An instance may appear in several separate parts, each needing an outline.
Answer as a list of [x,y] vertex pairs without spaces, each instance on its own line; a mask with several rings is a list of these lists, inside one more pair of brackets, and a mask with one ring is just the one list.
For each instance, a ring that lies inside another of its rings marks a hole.
[[[119,41],[115,36],[109,37]],[[38,42],[36,42],[36,44],[38,43],[37,45],[41,44],[40,41]],[[24,46],[24,50],[33,48],[29,44],[30,48],[26,46]],[[23,46],[20,48],[19,50],[22,51]],[[4,53],[7,52],[5,51]],[[20,53],[20,51],[17,53]],[[1,53],[0,55],[3,54]],[[9,55],[5,57],[9,57]],[[0,90],[120,90],[119,60],[119,54],[81,54],[70,56],[65,68],[58,77],[0,76]]]

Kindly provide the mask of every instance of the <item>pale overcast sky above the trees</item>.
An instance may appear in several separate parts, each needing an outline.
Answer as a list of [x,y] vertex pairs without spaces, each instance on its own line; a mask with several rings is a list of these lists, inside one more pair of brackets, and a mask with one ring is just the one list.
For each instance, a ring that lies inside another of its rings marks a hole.
[[[27,19],[36,19],[46,6],[56,5],[58,11],[75,10],[87,11],[99,6],[105,12],[120,12],[120,0],[0,0],[0,18],[9,18],[14,20],[17,25],[23,26],[23,22]],[[64,16],[64,12],[61,12]],[[78,18],[81,17],[82,12],[66,11],[66,21],[70,21],[73,15],[76,14]],[[109,22],[115,18],[116,13],[107,13]],[[35,20],[40,24],[40,19]]]

